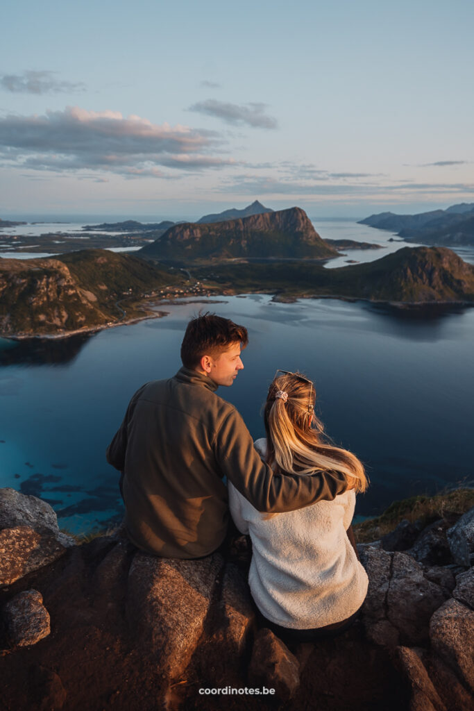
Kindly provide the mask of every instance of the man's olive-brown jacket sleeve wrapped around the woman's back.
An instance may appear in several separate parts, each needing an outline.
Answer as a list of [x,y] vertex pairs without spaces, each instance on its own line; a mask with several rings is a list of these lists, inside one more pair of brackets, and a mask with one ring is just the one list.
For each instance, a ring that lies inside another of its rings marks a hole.
[[261,512],[292,511],[325,499],[332,501],[348,488],[338,471],[314,474],[275,474],[260,459],[242,417],[232,407],[213,440],[222,474]]

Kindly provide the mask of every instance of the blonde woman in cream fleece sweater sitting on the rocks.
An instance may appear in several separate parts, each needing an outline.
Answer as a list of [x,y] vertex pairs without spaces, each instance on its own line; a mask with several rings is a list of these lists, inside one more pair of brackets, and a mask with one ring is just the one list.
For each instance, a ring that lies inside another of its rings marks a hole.
[[276,373],[264,409],[266,439],[255,442],[262,459],[286,474],[340,471],[350,488],[333,501],[268,514],[229,482],[230,511],[252,539],[249,586],[261,621],[284,641],[312,641],[347,629],[367,594],[350,525],[355,493],[365,491],[367,477],[354,454],[323,437],[311,380]]

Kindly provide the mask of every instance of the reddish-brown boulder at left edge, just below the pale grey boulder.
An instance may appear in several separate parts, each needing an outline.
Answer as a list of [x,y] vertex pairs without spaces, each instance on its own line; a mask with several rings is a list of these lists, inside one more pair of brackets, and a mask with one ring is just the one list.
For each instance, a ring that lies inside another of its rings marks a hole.
[[38,533],[29,526],[4,528],[0,531],[0,585],[10,585],[48,565],[66,550],[50,531]]

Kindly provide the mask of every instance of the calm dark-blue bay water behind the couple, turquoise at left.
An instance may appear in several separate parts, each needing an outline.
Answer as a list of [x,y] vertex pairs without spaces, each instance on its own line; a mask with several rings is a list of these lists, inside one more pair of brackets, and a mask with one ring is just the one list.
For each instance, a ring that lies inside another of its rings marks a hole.
[[[185,325],[203,304],[87,338],[0,340],[0,486],[42,496],[77,532],[120,515],[119,473],[105,449],[131,395],[180,367]],[[356,513],[472,481],[474,309],[413,316],[335,299],[275,304],[225,297],[207,308],[249,329],[244,370],[221,397],[253,437],[276,368],[316,382],[333,440],[367,465],[372,486]]]

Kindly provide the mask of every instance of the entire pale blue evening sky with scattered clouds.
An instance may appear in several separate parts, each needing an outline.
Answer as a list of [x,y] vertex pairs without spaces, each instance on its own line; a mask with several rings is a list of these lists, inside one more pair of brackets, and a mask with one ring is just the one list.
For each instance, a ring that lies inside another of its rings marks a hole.
[[471,0],[17,0],[0,218],[474,202]]

